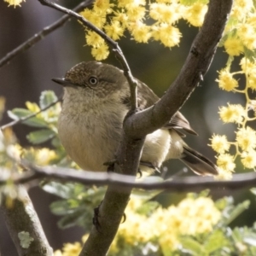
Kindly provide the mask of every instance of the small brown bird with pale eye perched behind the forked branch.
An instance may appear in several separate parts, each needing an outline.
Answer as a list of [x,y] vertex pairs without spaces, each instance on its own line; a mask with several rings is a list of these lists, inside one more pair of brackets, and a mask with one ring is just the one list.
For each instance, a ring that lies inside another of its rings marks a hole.
[[[103,163],[114,159],[130,105],[130,87],[123,71],[97,61],[82,62],[67,71],[65,78],[53,81],[64,86],[58,131],[67,154],[86,171],[107,171]],[[159,97],[137,81],[138,108],[148,108]],[[211,160],[183,142],[183,131],[196,134],[177,112],[167,125],[148,134],[142,170],[145,166],[160,169],[164,161],[180,159],[197,174],[218,175]]]

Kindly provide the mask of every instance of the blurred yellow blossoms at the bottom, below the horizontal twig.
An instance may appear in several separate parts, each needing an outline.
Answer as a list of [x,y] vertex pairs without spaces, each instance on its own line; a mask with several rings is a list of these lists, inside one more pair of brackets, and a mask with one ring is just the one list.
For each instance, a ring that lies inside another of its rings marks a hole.
[[[120,224],[119,231],[110,247],[109,253],[118,255],[125,247],[140,247],[150,242],[164,255],[172,255],[172,251],[180,245],[179,236],[211,232],[218,223],[221,213],[212,199],[200,196],[188,196],[177,207],[159,207],[149,217],[137,213],[142,201],[131,198],[126,207],[125,223]],[[60,250],[55,256],[78,255],[82,245],[79,242],[65,244],[63,253]]]

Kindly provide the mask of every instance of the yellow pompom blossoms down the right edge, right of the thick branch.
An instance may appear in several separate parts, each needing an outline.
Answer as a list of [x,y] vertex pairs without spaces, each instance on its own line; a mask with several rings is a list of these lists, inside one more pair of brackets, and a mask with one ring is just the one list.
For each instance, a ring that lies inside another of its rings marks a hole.
[[[230,59],[227,67],[219,72],[218,85],[222,90],[241,93],[246,98],[245,106],[240,104],[228,104],[219,108],[220,119],[224,123],[236,123],[236,141],[228,142],[224,136],[213,135],[212,148],[218,153],[217,164],[220,167],[220,177],[231,177],[230,172],[235,170],[235,160],[239,156],[241,164],[249,169],[256,167],[256,131],[248,126],[248,122],[255,118],[255,104],[250,98],[249,90],[256,90],[256,62],[253,50],[256,49],[256,12],[253,0],[235,0],[231,11],[230,20],[224,31],[224,48]],[[244,54],[241,58],[241,71],[230,73],[230,66],[234,56]],[[237,74],[244,75],[246,84],[239,90]],[[254,117],[250,117],[249,111],[253,110]],[[230,145],[236,149],[236,154],[229,154]]]

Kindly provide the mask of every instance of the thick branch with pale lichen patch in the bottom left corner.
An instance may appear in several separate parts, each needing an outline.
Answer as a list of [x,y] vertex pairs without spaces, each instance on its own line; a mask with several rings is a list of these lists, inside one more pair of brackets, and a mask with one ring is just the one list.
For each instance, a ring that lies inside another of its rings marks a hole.
[[[18,192],[19,199],[13,201],[12,207],[7,207],[8,199],[4,196],[0,205],[0,212],[3,213],[3,218],[18,254],[20,256],[52,256],[53,250],[44,235],[44,230],[26,189],[19,186]],[[22,241],[22,235],[25,236],[24,239],[28,241],[28,244],[26,244],[26,241]]]

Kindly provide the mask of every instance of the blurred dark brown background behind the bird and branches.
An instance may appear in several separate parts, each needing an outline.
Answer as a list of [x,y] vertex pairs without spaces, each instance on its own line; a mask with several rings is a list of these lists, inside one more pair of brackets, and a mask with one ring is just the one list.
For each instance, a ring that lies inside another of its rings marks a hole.
[[[58,1],[68,8],[73,8],[79,2]],[[42,6],[38,1],[27,0],[26,3],[22,3],[21,8],[15,9],[0,1],[0,17],[1,59],[32,35],[60,18],[61,13]],[[183,32],[183,38],[179,47],[173,49],[167,49],[159,43],[137,44],[128,35],[119,42],[133,75],[148,84],[158,96],[162,96],[177,77],[183,66],[183,61],[189,53],[190,45],[198,32],[198,28],[188,26],[184,21],[179,23],[179,27]],[[51,79],[63,76],[70,67],[80,61],[92,60],[90,49],[84,44],[83,27],[76,20],[71,20],[67,22],[66,26],[35,44],[32,49],[18,55],[8,65],[1,67],[0,96],[4,96],[6,99],[6,110],[25,108],[26,101],[38,102],[42,90],[55,90],[57,95],[61,95],[61,88]],[[226,93],[218,89],[218,84],[215,81],[218,77],[217,70],[223,68],[226,61],[227,55],[224,54],[224,49],[218,49],[204,81],[195,89],[181,110],[199,134],[199,137],[188,136],[186,142],[213,161],[215,161],[214,152],[207,146],[212,133],[226,134],[231,141],[235,137],[233,125],[223,125],[219,120],[218,108],[226,105],[227,102],[244,102],[241,95]],[[110,55],[105,62],[120,67],[113,55]],[[238,68],[239,61],[236,62],[234,70]],[[240,83],[242,85],[242,79]],[[1,125],[9,121],[10,119],[5,114]],[[27,128],[26,125],[16,125],[14,130],[21,145],[29,145],[26,134],[32,129]],[[178,160],[172,160],[168,164],[170,175],[182,171],[184,168]],[[239,162],[237,162],[237,171],[244,172]],[[189,171],[189,175],[194,174]],[[54,249],[61,248],[63,242],[80,241],[80,237],[83,235],[82,229],[58,229],[56,225],[58,218],[49,212],[49,203],[56,200],[54,195],[49,195],[38,187],[30,189],[29,194],[49,239],[49,244]],[[219,188],[211,195],[214,199],[232,195],[236,202],[250,199],[251,207],[232,224],[251,225],[255,221],[255,210],[253,210],[255,209],[255,198],[248,190],[237,190],[231,194],[230,191]],[[180,201],[183,196],[182,193],[163,193],[158,196],[158,199],[164,205],[170,205]],[[17,255],[1,215],[0,248],[2,256]]]

